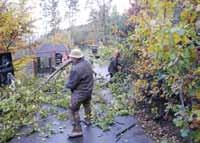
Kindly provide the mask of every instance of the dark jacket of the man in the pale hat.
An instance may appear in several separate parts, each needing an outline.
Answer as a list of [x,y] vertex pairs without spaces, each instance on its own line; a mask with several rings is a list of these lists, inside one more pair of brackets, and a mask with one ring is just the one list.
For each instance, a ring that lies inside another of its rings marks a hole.
[[82,99],[91,97],[93,84],[93,70],[85,59],[80,59],[78,63],[72,65],[66,87],[72,91],[73,96]]

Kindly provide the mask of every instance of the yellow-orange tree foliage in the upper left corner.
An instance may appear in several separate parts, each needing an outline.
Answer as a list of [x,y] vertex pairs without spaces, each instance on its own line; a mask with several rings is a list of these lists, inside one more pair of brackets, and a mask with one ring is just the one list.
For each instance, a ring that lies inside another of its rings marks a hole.
[[9,51],[23,45],[22,36],[30,33],[32,20],[25,6],[26,0],[19,3],[0,1],[0,51]]

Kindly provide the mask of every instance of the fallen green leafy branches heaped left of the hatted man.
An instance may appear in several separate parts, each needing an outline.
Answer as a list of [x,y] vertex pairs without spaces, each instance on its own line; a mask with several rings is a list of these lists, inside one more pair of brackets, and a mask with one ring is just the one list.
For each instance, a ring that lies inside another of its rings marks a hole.
[[[38,87],[41,79],[34,79],[26,74],[16,73],[20,82],[16,83],[16,90],[9,88],[0,90],[0,142],[6,142],[13,137],[18,129],[24,125],[36,124],[36,113],[41,118],[46,118],[50,113],[57,113],[54,109],[43,109],[44,103],[52,104],[63,108],[68,108],[70,102],[69,93],[61,93],[64,86],[64,75],[61,74],[56,81],[46,85],[46,91],[38,91],[33,94],[32,91]],[[53,89],[53,90],[52,90]],[[67,119],[67,113],[58,115],[61,120]]]

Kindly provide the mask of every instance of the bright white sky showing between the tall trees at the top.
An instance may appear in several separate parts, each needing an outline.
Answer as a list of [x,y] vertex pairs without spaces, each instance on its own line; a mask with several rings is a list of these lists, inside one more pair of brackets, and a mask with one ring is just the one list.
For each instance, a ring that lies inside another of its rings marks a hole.
[[[90,10],[85,7],[86,2],[87,2],[87,0],[79,0],[80,11],[77,13],[77,20],[74,23],[74,25],[82,25],[82,24],[88,23]],[[38,19],[34,23],[34,26],[35,26],[34,32],[35,32],[35,35],[38,37],[40,35],[45,34],[46,29],[48,29],[48,28],[45,28],[46,27],[45,20],[42,17],[42,9],[39,6],[40,0],[30,0],[30,4],[34,7],[31,10],[33,19]],[[111,6],[112,7],[116,6],[118,12],[120,14],[122,14],[129,8],[129,0],[113,0]],[[62,13],[62,11],[64,11],[64,9],[65,9],[64,1],[60,0],[59,11],[60,11],[60,15],[62,16],[62,18],[64,18],[64,13]],[[60,24],[60,28],[66,29],[67,27],[68,27],[68,23],[63,20]]]

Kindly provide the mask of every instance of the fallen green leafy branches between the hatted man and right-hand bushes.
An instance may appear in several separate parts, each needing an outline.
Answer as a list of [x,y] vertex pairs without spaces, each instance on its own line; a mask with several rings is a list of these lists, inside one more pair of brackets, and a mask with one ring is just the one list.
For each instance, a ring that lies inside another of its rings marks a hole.
[[[130,88],[127,87],[129,79],[125,74],[119,73],[113,80],[116,82],[109,84],[112,94],[107,95],[111,96],[111,101],[105,100],[99,94],[93,96],[93,122],[104,131],[109,130],[116,116],[133,115],[134,112],[134,104],[131,102],[133,95],[129,94]],[[102,89],[96,89],[95,92],[98,93],[99,90]]]

